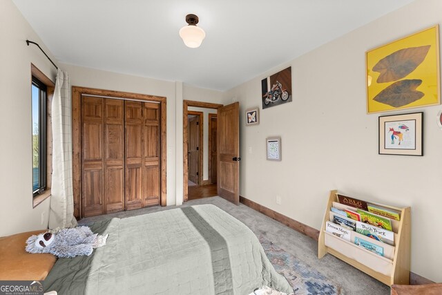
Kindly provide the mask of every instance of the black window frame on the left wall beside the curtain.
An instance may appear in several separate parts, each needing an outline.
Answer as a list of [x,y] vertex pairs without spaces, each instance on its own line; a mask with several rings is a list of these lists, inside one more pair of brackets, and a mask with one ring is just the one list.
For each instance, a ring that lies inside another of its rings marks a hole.
[[[41,193],[44,193],[44,191],[46,191],[46,175],[48,168],[46,164],[46,151],[47,151],[46,128],[47,128],[47,115],[48,115],[46,108],[46,97],[48,94],[48,87],[46,86],[46,84],[41,82],[41,80],[39,80],[34,75],[32,75],[31,88],[32,85],[36,86],[39,89],[39,184],[40,185],[36,190],[34,190],[32,187],[32,198],[36,198],[37,196],[41,195]],[[32,95],[31,95],[31,100],[32,100]],[[32,184],[33,184],[33,176],[32,176]]]

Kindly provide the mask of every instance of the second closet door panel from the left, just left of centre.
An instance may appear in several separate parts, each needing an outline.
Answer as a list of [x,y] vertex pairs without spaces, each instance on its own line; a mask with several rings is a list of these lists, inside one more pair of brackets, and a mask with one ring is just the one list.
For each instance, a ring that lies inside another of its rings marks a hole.
[[105,213],[124,210],[124,102],[104,99]]

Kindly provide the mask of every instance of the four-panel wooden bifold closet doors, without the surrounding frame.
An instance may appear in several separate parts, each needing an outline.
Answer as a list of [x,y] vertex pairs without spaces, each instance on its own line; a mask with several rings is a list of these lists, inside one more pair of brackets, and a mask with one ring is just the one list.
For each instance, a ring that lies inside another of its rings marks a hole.
[[83,96],[83,216],[160,203],[159,104]]

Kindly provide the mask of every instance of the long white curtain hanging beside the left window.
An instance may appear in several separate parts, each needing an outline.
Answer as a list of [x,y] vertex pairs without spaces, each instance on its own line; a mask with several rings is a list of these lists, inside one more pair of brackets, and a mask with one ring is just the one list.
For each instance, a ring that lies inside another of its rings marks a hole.
[[52,98],[52,187],[49,228],[75,227],[72,185],[72,101],[68,73],[58,70]]

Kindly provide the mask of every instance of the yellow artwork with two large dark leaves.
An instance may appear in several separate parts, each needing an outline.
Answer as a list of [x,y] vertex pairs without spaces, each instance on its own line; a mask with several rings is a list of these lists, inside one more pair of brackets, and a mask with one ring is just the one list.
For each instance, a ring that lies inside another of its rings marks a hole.
[[365,53],[367,113],[440,104],[439,25]]

